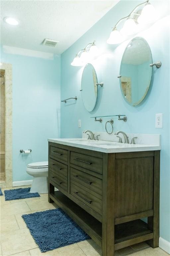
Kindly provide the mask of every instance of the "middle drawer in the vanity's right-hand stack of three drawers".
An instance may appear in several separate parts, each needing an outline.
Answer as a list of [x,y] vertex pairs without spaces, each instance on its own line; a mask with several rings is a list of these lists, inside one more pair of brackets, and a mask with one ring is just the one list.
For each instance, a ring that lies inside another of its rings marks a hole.
[[[71,182],[79,183],[83,189],[91,189],[96,193],[102,195],[102,180],[98,179],[90,174],[81,172],[74,168],[70,168],[70,180]],[[84,188],[85,187],[85,188]]]

